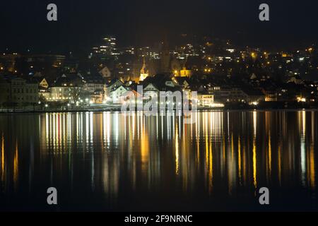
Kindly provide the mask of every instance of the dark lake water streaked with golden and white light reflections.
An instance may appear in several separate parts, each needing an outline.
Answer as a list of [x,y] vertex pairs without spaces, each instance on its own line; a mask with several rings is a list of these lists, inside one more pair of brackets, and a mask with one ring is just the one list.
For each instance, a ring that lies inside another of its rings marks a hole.
[[[318,112],[199,112],[183,122],[0,114],[0,210],[318,210]],[[51,186],[57,206],[47,205]]]

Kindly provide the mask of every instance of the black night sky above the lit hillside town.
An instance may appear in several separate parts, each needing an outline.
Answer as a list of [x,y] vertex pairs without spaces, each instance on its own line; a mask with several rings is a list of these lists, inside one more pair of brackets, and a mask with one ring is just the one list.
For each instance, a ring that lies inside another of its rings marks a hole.
[[[57,4],[58,21],[47,20],[47,4]],[[259,4],[270,6],[270,21],[259,21]],[[283,49],[318,40],[318,1],[1,1],[0,51],[64,53],[87,49],[105,35],[119,46],[151,45],[165,33],[211,35],[235,44]]]

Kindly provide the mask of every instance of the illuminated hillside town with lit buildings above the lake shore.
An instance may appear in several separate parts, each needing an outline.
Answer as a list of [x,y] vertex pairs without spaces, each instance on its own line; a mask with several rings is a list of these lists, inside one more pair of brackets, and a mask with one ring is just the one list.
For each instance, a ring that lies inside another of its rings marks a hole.
[[[318,52],[238,47],[183,34],[180,44],[118,47],[104,37],[79,54],[0,55],[1,111],[118,109],[126,93],[195,91],[199,109],[317,108]],[[137,89],[141,85],[143,92]],[[149,97],[142,97],[147,102]]]

